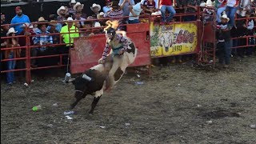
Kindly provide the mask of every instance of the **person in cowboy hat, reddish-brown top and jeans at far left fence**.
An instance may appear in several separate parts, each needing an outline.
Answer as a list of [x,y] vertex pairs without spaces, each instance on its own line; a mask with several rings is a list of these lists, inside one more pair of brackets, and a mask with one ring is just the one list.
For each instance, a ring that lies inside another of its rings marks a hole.
[[[17,31],[14,30],[13,27],[11,27],[6,36],[16,36]],[[6,48],[15,48],[20,46],[18,44],[18,38],[8,38]],[[13,50],[5,50],[5,58],[10,59],[10,61],[7,61],[7,70],[14,70],[16,66],[16,60],[11,60],[13,58],[20,58],[21,49],[13,49]],[[14,83],[14,71],[7,72],[6,73],[7,83],[8,85],[12,85]]]

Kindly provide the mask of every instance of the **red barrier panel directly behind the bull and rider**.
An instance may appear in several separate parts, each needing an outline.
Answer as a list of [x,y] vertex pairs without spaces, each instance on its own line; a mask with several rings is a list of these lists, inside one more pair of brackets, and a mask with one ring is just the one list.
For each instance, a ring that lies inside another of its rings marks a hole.
[[[150,65],[150,25],[139,23],[127,26],[127,37],[131,38],[138,48],[134,63],[130,66]],[[75,38],[74,49],[70,50],[71,74],[82,73],[98,64],[106,44],[105,34],[91,35],[89,37]]]

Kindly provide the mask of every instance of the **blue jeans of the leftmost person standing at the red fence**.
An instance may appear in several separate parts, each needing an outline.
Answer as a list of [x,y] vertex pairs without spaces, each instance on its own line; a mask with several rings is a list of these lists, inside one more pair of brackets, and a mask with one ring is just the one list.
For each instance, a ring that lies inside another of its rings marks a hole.
[[[12,59],[14,58],[14,53],[11,52],[8,59]],[[15,69],[15,64],[16,61],[7,61],[7,70],[14,70]],[[7,72],[6,73],[6,77],[7,77],[7,83],[13,83],[14,82],[14,72]]]

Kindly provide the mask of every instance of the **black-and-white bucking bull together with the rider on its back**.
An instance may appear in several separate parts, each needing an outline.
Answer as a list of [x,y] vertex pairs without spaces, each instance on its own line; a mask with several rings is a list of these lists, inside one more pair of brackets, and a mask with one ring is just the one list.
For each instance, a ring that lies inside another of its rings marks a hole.
[[[90,114],[94,113],[94,108],[105,90],[111,90],[113,86],[122,78],[126,67],[134,62],[137,55],[137,48],[130,38],[126,37],[126,32],[117,30],[118,21],[106,22],[106,47],[96,66],[86,70],[81,76],[72,82],[75,87],[74,106],[87,94],[94,95],[91,104]],[[121,35],[122,34],[122,35]],[[107,54],[111,47],[110,54]]]

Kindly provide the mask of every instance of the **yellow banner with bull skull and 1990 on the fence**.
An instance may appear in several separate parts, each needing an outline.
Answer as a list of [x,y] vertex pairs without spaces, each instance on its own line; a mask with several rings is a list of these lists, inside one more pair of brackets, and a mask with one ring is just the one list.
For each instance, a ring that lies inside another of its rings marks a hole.
[[195,23],[154,26],[150,23],[151,57],[193,53],[197,47],[198,27]]

